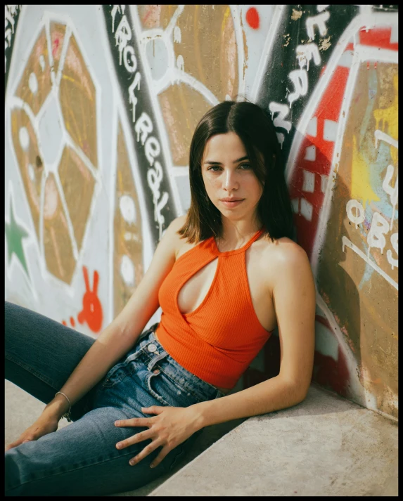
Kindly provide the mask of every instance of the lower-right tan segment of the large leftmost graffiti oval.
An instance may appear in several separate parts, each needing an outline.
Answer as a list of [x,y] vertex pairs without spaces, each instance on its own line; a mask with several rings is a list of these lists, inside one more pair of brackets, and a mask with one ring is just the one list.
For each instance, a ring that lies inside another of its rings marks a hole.
[[[63,150],[58,173],[72,222],[77,249],[80,251],[82,238],[89,219],[95,181],[84,162],[68,146],[65,146]],[[77,200],[79,200],[79,203],[77,203]]]

